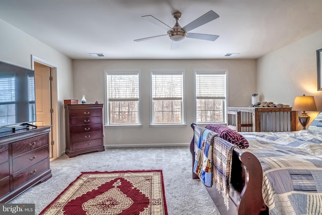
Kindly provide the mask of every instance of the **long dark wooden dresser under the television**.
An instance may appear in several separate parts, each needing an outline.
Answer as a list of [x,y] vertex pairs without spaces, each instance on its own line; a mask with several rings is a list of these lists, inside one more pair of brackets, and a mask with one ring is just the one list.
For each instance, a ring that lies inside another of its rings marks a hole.
[[50,126],[0,133],[0,203],[52,177]]

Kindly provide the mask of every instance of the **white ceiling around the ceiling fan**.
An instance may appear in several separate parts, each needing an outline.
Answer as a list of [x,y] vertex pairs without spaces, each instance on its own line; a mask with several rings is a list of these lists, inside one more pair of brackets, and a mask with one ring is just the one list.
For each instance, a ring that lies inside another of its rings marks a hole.
[[[219,35],[214,42],[133,41],[166,34],[141,16],[172,27],[180,11],[184,27],[210,10],[219,18],[190,32]],[[0,19],[72,59],[258,58],[321,30],[321,11],[321,0],[0,0]]]

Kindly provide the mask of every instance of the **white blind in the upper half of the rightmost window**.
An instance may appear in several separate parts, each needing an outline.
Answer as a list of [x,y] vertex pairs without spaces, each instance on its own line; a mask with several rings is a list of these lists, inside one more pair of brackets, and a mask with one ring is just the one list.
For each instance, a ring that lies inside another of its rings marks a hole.
[[226,75],[225,73],[196,73],[197,99],[225,99]]

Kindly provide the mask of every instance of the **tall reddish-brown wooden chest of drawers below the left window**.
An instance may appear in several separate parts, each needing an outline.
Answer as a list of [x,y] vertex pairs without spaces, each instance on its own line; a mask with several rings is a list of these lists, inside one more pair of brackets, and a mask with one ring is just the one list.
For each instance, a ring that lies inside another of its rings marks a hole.
[[68,104],[65,107],[66,155],[104,151],[103,104]]

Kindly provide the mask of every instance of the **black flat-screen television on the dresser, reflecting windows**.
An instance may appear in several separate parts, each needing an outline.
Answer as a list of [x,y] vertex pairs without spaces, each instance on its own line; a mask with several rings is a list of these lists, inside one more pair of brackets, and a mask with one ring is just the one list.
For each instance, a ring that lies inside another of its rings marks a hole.
[[35,121],[35,71],[0,61],[0,126]]

